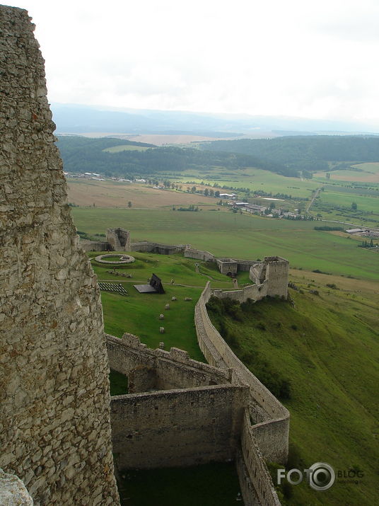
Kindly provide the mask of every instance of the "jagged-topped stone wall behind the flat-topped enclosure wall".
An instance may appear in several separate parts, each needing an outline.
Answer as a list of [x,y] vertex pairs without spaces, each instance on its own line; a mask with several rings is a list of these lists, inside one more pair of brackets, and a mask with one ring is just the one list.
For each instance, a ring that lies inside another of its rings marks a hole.
[[170,352],[150,350],[132,334],[124,334],[122,339],[106,335],[106,340],[110,367],[129,377],[129,393],[188,389],[231,380],[230,371],[192,360],[187,352],[177,348]]

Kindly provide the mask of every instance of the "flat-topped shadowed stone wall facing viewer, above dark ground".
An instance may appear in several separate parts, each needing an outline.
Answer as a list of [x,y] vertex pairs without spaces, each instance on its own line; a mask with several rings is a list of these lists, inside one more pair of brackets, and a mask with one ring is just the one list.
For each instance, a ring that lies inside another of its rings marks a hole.
[[246,393],[246,386],[229,384],[112,397],[117,466],[157,468],[233,459]]

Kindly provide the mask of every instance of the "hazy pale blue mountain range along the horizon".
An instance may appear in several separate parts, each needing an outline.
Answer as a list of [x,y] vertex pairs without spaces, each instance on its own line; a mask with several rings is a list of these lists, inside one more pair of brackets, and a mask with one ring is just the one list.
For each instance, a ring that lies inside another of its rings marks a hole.
[[204,137],[280,137],[315,134],[379,134],[379,126],[298,117],[112,110],[100,106],[52,104],[58,134],[192,134]]

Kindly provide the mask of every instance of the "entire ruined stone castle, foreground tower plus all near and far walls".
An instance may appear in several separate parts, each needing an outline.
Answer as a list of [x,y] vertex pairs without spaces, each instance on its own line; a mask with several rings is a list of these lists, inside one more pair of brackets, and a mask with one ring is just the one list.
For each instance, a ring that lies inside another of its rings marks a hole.
[[[0,467],[21,478],[35,505],[117,505],[100,293],[69,216],[44,62],[26,11],[0,6],[0,34]],[[129,240],[123,229],[108,231],[118,251],[187,250],[214,261],[188,245]],[[285,295],[285,260],[233,262],[250,268],[265,294]],[[212,326],[210,295],[207,285],[195,312],[209,364],[107,336],[112,367],[132,392],[112,398],[117,464],[235,459],[245,505],[278,505],[263,458],[286,460],[288,412]],[[13,485],[25,493],[16,478],[0,478],[3,494]]]

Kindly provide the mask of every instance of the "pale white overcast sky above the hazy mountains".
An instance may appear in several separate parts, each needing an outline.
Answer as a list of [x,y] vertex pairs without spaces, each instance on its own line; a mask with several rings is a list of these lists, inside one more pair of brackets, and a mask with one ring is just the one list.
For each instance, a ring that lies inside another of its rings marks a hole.
[[49,101],[361,120],[379,130],[378,0],[16,0]]

